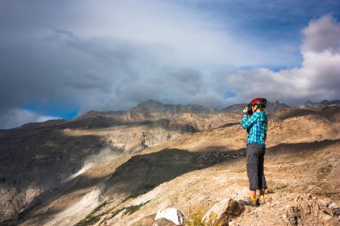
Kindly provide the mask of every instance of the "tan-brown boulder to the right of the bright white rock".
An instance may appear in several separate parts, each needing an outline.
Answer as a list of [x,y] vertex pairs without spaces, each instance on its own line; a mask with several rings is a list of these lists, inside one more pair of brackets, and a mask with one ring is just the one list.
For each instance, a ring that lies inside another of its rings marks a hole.
[[211,207],[202,220],[208,222],[209,218],[215,215],[218,225],[228,225],[228,222],[241,215],[243,211],[242,204],[232,198],[225,198]]

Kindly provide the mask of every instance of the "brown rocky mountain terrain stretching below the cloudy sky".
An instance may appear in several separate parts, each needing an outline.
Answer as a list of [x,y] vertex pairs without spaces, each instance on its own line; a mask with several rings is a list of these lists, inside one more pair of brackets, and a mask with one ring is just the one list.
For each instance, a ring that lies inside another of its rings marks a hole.
[[[340,106],[275,103],[267,202],[246,206],[229,224],[338,224]],[[167,206],[190,216],[223,198],[241,200],[248,188],[240,119],[148,101],[127,112],[0,130],[1,223],[152,225]]]

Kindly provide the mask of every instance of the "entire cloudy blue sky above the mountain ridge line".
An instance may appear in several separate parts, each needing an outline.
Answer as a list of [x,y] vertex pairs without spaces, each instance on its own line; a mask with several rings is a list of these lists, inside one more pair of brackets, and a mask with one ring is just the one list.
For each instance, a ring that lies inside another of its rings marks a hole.
[[1,0],[0,129],[126,110],[340,97],[338,0]]

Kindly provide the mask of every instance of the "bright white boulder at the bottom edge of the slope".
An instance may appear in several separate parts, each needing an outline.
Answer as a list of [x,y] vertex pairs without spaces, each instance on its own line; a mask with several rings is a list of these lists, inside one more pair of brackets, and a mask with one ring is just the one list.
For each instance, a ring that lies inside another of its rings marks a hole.
[[183,225],[184,219],[183,213],[174,207],[169,207],[157,211],[154,226]]

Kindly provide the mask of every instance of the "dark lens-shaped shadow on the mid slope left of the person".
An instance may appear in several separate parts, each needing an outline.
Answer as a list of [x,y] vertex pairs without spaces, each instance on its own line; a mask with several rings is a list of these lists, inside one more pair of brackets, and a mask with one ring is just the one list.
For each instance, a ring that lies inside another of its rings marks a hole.
[[116,169],[106,184],[105,193],[139,196],[183,173],[208,167],[212,163],[201,161],[204,155],[175,148],[135,155]]

